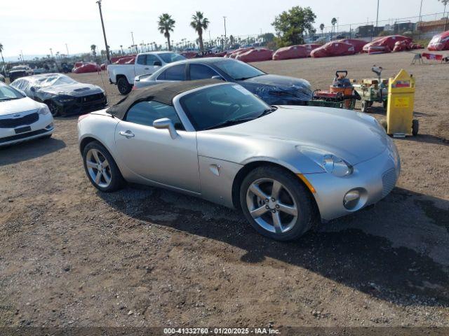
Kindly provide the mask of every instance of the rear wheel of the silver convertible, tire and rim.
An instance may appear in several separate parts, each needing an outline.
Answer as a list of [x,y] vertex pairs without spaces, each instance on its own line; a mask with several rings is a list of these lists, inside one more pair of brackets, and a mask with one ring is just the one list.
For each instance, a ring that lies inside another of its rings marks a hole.
[[119,167],[107,149],[97,141],[84,148],[83,163],[89,180],[98,190],[108,193],[123,186]]

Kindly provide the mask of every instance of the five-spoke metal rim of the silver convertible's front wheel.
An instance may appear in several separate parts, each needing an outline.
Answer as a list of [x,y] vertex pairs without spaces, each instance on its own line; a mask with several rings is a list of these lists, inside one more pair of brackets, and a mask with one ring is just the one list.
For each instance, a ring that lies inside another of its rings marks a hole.
[[297,221],[295,199],[286,186],[275,179],[257,179],[246,192],[250,216],[264,230],[283,234]]

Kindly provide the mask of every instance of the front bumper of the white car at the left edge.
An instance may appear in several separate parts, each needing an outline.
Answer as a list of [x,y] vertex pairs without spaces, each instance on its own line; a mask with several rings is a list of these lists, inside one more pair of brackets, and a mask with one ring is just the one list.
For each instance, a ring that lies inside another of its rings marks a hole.
[[[27,126],[27,125],[20,125]],[[46,115],[39,115],[39,120],[29,125],[31,130],[29,132],[15,134],[14,128],[0,128],[0,146],[8,146],[18,144],[22,141],[38,139],[53,134],[55,128],[53,125],[53,117],[50,113]]]

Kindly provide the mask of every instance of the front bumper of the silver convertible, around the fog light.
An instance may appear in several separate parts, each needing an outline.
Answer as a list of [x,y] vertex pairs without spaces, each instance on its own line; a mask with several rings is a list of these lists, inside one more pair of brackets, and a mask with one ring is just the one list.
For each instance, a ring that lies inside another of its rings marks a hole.
[[[401,162],[393,145],[375,158],[355,165],[350,176],[339,178],[328,173],[304,176],[316,190],[314,197],[321,219],[330,221],[382,200],[396,186],[400,172]],[[349,210],[344,207],[343,200],[350,190],[360,191],[361,198],[356,207]]]

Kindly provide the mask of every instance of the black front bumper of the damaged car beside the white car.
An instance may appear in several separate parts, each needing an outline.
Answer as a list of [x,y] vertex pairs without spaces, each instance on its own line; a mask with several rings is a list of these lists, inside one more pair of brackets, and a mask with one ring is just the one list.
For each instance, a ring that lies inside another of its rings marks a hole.
[[57,99],[53,99],[53,102],[58,107],[60,116],[98,111],[104,109],[107,105],[105,94],[74,97],[71,102],[59,102]]

